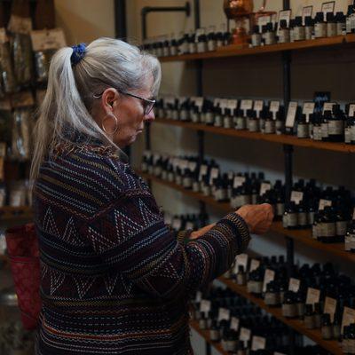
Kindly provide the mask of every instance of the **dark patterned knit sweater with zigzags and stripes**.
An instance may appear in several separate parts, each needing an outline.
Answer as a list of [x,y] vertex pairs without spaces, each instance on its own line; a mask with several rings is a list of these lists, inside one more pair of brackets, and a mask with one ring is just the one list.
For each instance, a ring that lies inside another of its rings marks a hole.
[[145,182],[104,147],[60,148],[43,162],[34,208],[39,355],[192,354],[188,297],[249,241],[234,213],[178,241]]

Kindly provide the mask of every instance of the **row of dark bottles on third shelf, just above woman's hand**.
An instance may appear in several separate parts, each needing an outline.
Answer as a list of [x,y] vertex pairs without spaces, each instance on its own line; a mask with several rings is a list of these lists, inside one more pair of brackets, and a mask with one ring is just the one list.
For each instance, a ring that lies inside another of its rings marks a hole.
[[265,179],[263,172],[223,173],[214,160],[198,162],[194,156],[181,158],[145,152],[144,172],[202,193],[231,209],[246,204],[270,203],[275,220],[286,229],[312,229],[312,238],[324,243],[345,243],[355,251],[355,220],[351,193],[343,186],[320,188],[314,179],[299,179],[285,204],[285,185]]

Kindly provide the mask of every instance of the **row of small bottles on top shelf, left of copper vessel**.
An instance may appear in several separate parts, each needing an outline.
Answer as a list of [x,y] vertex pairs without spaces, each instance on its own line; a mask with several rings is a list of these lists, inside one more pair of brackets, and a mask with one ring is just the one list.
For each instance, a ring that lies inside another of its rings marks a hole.
[[149,38],[144,41],[141,48],[157,57],[168,57],[216,51],[217,48],[228,45],[230,40],[231,33],[223,24],[219,29],[216,26],[209,26],[186,33],[180,32],[178,35]]

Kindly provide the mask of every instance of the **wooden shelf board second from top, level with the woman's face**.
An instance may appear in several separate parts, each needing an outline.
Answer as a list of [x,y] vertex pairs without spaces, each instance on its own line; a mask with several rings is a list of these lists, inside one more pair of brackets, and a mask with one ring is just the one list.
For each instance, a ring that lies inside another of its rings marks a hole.
[[181,122],[165,118],[157,118],[155,119],[155,122],[187,128],[190,130],[203,130],[205,132],[216,133],[222,136],[263,140],[265,142],[287,144],[291,146],[303,146],[305,148],[321,149],[338,153],[355,153],[355,146],[346,145],[344,143],[319,142],[309,138],[296,138],[295,136],[288,136],[286,134],[264,134],[260,132],[249,132],[248,130],[225,129],[207,126],[201,123]]

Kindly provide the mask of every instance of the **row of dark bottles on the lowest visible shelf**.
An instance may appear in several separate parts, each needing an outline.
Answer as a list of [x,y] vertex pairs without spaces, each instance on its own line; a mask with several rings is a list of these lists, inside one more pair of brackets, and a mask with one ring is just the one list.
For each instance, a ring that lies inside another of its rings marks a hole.
[[[210,288],[198,292],[193,300],[192,318],[212,342],[221,344],[233,355],[287,354],[288,327],[229,288]],[[303,336],[296,334],[295,353],[327,354],[318,346],[304,347]]]

